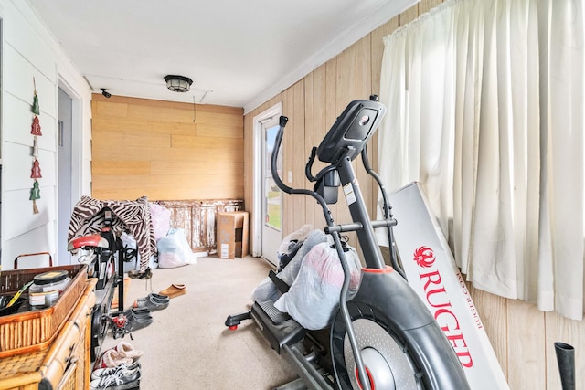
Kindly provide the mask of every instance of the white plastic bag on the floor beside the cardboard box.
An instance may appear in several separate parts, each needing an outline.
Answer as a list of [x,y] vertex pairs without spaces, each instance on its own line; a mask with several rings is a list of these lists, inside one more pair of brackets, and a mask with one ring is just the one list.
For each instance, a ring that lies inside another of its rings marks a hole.
[[184,229],[172,228],[169,234],[156,242],[158,267],[172,269],[195,264],[197,259],[186,240]]

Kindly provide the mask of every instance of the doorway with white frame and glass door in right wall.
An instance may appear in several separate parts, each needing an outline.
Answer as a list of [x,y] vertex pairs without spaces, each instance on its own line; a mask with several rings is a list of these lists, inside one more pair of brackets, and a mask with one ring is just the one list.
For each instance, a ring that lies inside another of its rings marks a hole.
[[[254,117],[254,244],[253,256],[278,266],[277,249],[282,242],[282,191],[271,175],[271,155],[279,129],[282,103]],[[282,157],[277,168],[282,171]]]

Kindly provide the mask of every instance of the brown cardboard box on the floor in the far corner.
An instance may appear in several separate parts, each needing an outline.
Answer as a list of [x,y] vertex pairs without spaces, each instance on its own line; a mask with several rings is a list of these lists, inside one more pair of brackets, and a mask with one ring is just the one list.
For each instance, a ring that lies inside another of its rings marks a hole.
[[248,212],[218,213],[218,257],[243,258],[248,255]]

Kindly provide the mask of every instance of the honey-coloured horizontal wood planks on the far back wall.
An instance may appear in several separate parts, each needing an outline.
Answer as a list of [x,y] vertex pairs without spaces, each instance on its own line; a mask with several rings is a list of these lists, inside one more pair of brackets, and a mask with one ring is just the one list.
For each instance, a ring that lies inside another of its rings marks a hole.
[[101,94],[91,109],[93,197],[243,197],[243,109]]

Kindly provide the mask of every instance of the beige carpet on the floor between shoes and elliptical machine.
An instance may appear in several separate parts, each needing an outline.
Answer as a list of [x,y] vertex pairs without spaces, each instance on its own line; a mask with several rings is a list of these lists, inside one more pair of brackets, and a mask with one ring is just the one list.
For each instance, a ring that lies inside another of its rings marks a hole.
[[106,336],[101,351],[119,341],[143,351],[142,390],[271,389],[296,375],[271,350],[253,321],[229,331],[229,314],[246,311],[251,291],[268,275],[260,258],[197,258],[197,264],[176,269],[154,269],[151,280],[133,279],[124,309],[134,299],[164,290],[171,283],[186,284],[186,294],[168,308],[154,311],[154,322],[114,340]]

